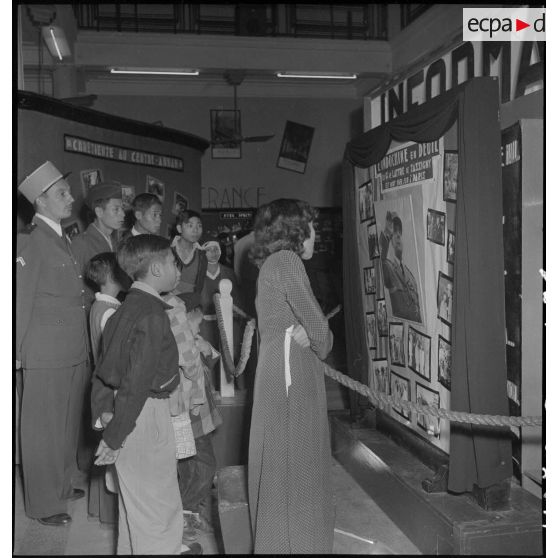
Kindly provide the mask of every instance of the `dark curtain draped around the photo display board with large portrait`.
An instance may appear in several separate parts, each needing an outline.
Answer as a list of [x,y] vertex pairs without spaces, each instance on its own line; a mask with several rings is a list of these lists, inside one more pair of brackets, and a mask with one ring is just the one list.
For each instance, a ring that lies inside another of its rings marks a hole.
[[[457,120],[459,188],[456,204],[454,300],[452,312],[451,408],[473,413],[508,414],[505,361],[505,302],[500,167],[499,92],[495,78],[474,78],[392,122],[349,142],[347,161],[358,167],[378,163],[392,140],[434,141]],[[348,182],[345,182],[345,186]],[[344,202],[356,203],[345,192]],[[353,206],[354,209],[354,206]],[[343,209],[344,218],[354,213]],[[347,228],[349,224],[345,221]],[[352,238],[356,242],[356,227]],[[347,234],[349,237],[349,234]],[[344,241],[344,276],[359,270],[354,246]],[[351,269],[349,265],[355,267]],[[360,276],[358,277],[360,289]],[[354,281],[353,281],[354,282]],[[346,315],[362,314],[356,288],[345,295]],[[358,324],[355,324],[358,326]],[[364,331],[364,325],[362,326]],[[347,329],[347,341],[351,330]],[[361,337],[359,334],[357,336]],[[365,341],[347,342],[366,354]],[[356,346],[355,346],[356,345]],[[364,347],[364,350],[363,350]],[[364,360],[366,362],[366,360]],[[349,370],[352,373],[351,368]],[[358,369],[355,373],[362,376]],[[356,375],[354,377],[357,377]],[[507,428],[452,424],[449,490],[485,488],[512,474],[511,442]]]

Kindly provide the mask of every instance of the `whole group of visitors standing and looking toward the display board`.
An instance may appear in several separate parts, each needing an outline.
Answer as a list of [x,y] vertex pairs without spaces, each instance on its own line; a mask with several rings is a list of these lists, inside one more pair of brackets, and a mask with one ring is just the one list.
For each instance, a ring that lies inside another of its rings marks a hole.
[[[204,503],[216,471],[211,433],[221,423],[210,373],[219,353],[201,329],[202,300],[224,270],[217,243],[200,246],[201,219],[191,210],[178,217],[175,238],[159,236],[162,207],[151,194],[136,197],[136,222],[116,242],[124,213],[111,183],[90,189],[93,221],[70,243],[61,227],[73,204],[66,175],[47,161],[18,189],[35,209],[16,261],[27,515],[71,522],[67,502],[84,496],[72,486],[80,439],[82,462],[88,457],[80,424],[90,415],[89,510],[118,517],[117,552],[202,553],[192,541],[211,528]],[[281,199],[260,207],[254,224],[260,349],[248,484],[256,553],[332,549],[322,361],[333,335],[303,265],[314,219],[305,202]]]

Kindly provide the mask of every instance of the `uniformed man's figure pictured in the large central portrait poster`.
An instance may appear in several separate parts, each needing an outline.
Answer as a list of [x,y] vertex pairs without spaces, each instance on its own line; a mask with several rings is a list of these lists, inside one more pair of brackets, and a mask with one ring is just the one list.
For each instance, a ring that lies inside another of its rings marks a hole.
[[[384,286],[389,291],[391,311],[397,318],[421,322],[417,282],[403,263],[403,224],[395,212],[388,211],[384,231],[380,233],[380,256]],[[395,259],[387,257],[392,244]]]

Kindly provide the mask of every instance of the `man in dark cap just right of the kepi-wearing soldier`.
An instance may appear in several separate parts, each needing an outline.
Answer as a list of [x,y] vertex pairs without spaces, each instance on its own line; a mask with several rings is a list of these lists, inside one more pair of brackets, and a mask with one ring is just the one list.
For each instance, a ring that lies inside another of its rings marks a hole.
[[[85,200],[94,212],[95,220],[72,241],[72,252],[80,265],[83,275],[87,262],[101,252],[116,250],[115,231],[124,223],[122,209],[122,186],[115,182],[101,182],[92,186]],[[91,285],[85,283],[86,306],[95,299]]]

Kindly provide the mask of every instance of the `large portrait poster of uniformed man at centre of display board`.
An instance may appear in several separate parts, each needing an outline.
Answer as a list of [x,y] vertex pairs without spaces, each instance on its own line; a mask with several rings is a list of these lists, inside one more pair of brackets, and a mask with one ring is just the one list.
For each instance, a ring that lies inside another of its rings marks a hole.
[[415,232],[415,222],[420,216],[414,214],[410,196],[382,200],[374,205],[390,316],[422,324],[424,299],[419,257],[424,256],[424,240]]

